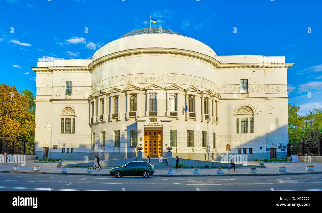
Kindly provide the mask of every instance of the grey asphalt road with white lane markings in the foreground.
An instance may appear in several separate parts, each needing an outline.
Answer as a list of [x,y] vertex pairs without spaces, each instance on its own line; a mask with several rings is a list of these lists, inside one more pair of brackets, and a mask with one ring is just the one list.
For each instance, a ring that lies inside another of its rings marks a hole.
[[322,190],[322,174],[115,178],[2,173],[0,190]]

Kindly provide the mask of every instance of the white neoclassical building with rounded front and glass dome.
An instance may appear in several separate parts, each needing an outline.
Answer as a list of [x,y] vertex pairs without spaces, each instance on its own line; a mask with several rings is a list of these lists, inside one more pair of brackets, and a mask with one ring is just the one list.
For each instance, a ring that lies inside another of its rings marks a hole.
[[91,59],[39,61],[36,154],[101,159],[282,158],[288,143],[284,57],[217,56],[169,29],[129,32]]

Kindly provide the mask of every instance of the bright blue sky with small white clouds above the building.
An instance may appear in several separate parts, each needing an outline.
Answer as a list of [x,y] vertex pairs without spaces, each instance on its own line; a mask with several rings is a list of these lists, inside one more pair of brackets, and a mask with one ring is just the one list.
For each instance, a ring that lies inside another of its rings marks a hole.
[[0,0],[0,8],[0,83],[18,90],[36,92],[30,67],[39,58],[90,58],[149,27],[151,15],[156,27],[204,42],[217,55],[285,56],[296,63],[288,69],[289,103],[302,115],[322,105],[321,1]]

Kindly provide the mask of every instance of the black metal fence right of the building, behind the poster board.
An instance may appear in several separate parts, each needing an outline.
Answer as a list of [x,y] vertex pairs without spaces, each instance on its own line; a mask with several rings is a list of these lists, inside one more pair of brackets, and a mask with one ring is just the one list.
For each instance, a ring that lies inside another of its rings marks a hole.
[[321,141],[287,144],[287,156],[322,156]]

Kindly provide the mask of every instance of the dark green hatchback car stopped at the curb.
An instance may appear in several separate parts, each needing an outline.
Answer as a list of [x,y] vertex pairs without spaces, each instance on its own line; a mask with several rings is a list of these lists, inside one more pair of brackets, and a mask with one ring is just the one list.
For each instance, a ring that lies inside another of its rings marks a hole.
[[154,174],[154,168],[153,166],[148,162],[143,161],[132,161],[128,162],[124,166],[112,168],[109,173],[112,176],[115,176],[117,178],[122,177],[123,175],[129,175],[129,176],[143,176],[145,178],[150,177]]

